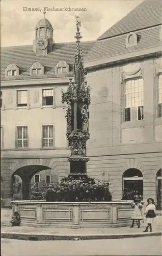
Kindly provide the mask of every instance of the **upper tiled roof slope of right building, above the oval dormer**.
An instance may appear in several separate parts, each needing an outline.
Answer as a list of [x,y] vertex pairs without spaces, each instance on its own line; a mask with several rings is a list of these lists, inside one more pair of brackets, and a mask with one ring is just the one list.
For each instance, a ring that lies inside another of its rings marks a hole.
[[98,40],[159,25],[162,23],[161,10],[161,0],[145,0],[104,32]]

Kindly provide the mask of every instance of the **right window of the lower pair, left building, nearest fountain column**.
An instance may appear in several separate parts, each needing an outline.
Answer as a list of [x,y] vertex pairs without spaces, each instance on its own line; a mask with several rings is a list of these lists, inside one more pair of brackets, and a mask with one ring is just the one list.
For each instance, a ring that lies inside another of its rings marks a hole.
[[43,125],[42,133],[43,147],[53,147],[53,125]]

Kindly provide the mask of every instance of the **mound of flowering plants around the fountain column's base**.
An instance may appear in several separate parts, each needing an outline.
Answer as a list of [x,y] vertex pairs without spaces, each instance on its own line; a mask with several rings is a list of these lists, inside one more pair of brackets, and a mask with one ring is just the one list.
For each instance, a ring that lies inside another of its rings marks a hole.
[[90,177],[79,180],[63,178],[57,184],[48,186],[46,201],[112,201],[112,193],[107,181]]

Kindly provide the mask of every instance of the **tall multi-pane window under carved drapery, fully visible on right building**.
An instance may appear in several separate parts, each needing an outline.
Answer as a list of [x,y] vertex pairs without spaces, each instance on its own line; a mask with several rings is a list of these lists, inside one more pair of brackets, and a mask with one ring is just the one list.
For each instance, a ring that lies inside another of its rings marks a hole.
[[144,118],[143,93],[142,78],[125,81],[125,121]]

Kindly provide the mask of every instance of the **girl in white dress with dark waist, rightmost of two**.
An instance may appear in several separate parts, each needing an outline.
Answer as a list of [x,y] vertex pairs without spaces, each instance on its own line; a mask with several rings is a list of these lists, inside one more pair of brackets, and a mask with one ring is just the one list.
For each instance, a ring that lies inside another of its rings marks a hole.
[[153,219],[156,217],[155,204],[154,204],[154,200],[152,198],[148,198],[147,202],[148,202],[148,204],[146,205],[146,210],[145,210],[147,227],[144,230],[144,232],[148,232],[149,227],[150,227],[150,232],[152,232],[151,224],[153,223]]

